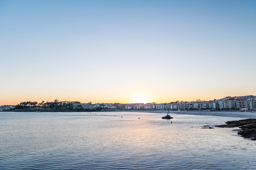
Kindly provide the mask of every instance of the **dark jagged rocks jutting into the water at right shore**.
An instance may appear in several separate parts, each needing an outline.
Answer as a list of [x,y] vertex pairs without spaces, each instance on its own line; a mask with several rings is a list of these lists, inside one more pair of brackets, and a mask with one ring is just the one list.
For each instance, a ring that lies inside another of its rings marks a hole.
[[241,130],[237,133],[244,138],[256,140],[256,119],[243,119],[238,121],[227,121],[225,125],[218,125],[219,128],[239,127]]

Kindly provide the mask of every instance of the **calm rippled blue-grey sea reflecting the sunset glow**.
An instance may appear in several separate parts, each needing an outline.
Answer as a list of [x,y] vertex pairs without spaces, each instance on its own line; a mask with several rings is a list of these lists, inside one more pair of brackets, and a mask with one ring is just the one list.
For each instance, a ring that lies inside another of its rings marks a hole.
[[256,169],[256,141],[201,128],[245,118],[164,115],[0,112],[0,169]]

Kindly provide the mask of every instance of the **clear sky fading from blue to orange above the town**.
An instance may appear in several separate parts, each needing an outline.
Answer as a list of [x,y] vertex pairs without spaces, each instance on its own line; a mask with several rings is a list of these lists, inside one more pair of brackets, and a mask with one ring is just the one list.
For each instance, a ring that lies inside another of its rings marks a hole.
[[256,95],[255,0],[0,0],[0,105]]

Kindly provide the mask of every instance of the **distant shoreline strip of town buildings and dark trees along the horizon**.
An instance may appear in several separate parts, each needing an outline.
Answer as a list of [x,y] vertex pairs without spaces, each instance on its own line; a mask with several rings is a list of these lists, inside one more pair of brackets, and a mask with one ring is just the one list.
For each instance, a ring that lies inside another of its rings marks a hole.
[[[70,111],[77,110],[237,110],[237,111],[256,111],[256,96],[239,96],[239,97],[224,97],[222,99],[213,99],[210,101],[201,101],[197,99],[193,102],[176,101],[170,103],[81,103],[81,102],[59,102],[55,99],[54,102],[21,102],[20,104],[0,106],[0,111],[15,110],[21,108],[38,108],[47,107],[51,109],[65,108]],[[99,109],[101,108],[101,109]]]

